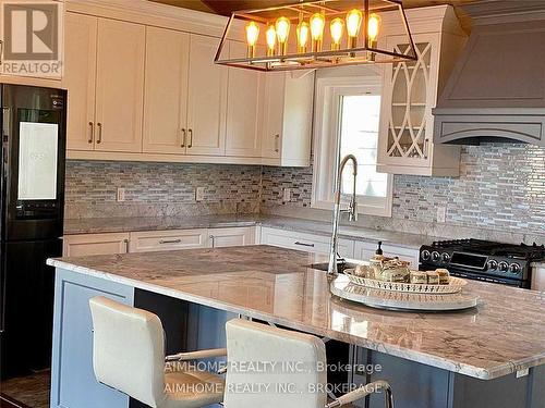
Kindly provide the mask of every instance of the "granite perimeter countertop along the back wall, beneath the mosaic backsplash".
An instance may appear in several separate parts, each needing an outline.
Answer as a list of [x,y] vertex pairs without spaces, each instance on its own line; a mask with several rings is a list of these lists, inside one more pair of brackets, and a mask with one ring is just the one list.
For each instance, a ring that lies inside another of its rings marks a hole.
[[[105,218],[64,220],[64,235],[119,233],[133,231],[162,231],[189,228],[217,228],[230,226],[269,226],[288,231],[298,231],[318,235],[331,234],[331,222],[312,221],[290,217],[259,214],[222,214],[197,217],[162,217],[162,218]],[[410,234],[393,231],[378,231],[360,226],[340,225],[340,238],[359,240],[382,240],[397,246],[419,249],[441,238],[427,235]]]

